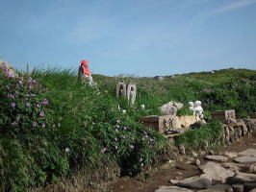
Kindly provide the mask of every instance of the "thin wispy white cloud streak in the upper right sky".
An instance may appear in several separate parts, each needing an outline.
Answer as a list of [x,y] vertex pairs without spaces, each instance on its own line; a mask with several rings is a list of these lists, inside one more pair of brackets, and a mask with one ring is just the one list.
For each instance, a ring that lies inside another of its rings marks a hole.
[[240,1],[230,3],[228,5],[225,5],[223,7],[220,7],[217,10],[215,10],[214,13],[229,12],[229,11],[237,10],[255,3],[256,3],[256,0],[240,0]]

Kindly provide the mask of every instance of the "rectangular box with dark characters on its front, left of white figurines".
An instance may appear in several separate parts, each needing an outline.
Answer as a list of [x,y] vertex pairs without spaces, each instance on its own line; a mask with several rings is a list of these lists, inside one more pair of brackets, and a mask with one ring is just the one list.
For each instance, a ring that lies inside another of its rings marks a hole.
[[173,115],[151,115],[140,118],[140,122],[144,127],[150,127],[157,132],[166,132],[173,128],[175,124],[175,116]]

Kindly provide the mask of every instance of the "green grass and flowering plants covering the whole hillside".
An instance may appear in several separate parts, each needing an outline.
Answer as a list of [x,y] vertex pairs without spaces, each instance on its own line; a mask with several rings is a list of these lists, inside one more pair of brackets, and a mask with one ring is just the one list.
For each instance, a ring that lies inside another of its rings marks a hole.
[[[93,80],[97,88],[80,84],[72,71],[57,69],[34,70],[19,79],[1,76],[0,191],[26,191],[70,178],[76,170],[104,169],[112,162],[122,175],[137,175],[157,164],[169,149],[166,138],[142,128],[139,118],[160,114],[159,107],[169,101],[185,105],[179,115],[191,114],[187,104],[196,100],[202,101],[207,117],[217,109],[234,108],[240,117],[256,111],[253,70],[190,73],[160,82],[102,75]],[[120,81],[137,84],[134,107],[115,98]],[[127,113],[122,114],[118,105]],[[206,134],[216,139],[220,133]]]

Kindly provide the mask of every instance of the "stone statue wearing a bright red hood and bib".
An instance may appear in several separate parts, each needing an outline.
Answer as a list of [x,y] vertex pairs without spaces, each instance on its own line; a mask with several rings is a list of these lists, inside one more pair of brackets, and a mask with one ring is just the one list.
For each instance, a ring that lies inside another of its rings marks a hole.
[[82,60],[81,65],[78,70],[78,79],[84,84],[89,84],[90,86],[95,85],[92,80],[90,69],[88,68],[89,60]]

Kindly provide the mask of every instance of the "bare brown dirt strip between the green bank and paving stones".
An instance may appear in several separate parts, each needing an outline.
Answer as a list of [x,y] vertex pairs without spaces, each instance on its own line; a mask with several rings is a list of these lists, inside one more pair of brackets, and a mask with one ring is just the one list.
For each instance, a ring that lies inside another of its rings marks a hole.
[[[246,149],[256,149],[256,137],[243,137],[241,140],[232,143],[215,154],[224,154],[224,152],[242,152]],[[198,156],[201,164],[205,162],[204,156]],[[192,176],[198,176],[201,171],[198,166],[192,163],[176,162],[174,166],[164,166],[161,169],[153,170],[143,177],[129,178],[124,177],[108,185],[108,192],[154,192],[161,185],[171,185],[170,179],[185,179]]]

